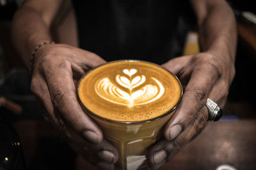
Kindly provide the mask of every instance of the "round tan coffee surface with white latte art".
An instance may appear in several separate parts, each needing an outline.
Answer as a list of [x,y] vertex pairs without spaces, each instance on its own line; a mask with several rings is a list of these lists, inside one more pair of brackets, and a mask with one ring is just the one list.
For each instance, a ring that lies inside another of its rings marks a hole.
[[99,117],[141,122],[172,110],[180,100],[179,80],[148,62],[110,62],[86,74],[79,83],[79,99]]

